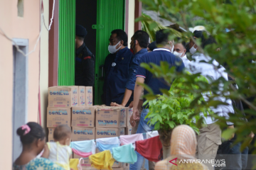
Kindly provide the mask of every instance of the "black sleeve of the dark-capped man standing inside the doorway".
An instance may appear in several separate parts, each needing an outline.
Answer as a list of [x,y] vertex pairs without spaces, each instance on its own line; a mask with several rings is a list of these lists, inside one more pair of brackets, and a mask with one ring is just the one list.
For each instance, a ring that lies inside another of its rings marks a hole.
[[92,56],[84,56],[82,58],[82,71],[85,74],[84,86],[93,86],[95,81],[95,61]]

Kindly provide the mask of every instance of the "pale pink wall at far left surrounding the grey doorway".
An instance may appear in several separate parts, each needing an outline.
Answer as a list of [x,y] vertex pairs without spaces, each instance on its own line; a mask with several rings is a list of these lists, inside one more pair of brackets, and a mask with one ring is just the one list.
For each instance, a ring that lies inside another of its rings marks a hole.
[[[17,0],[0,1],[0,28],[10,38],[28,39],[28,51],[33,50],[40,30],[40,0],[23,0],[24,15],[18,17]],[[38,122],[39,45],[28,56],[28,121]],[[12,42],[0,30],[0,165],[11,169],[13,50]]]

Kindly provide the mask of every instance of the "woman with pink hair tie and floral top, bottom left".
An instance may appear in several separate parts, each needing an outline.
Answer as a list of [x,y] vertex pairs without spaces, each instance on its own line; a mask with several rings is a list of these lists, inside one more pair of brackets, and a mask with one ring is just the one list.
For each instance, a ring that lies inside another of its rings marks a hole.
[[38,123],[27,123],[18,128],[17,135],[21,138],[22,152],[13,164],[13,170],[41,169],[63,170],[60,166],[45,158],[37,158],[46,145],[46,134]]

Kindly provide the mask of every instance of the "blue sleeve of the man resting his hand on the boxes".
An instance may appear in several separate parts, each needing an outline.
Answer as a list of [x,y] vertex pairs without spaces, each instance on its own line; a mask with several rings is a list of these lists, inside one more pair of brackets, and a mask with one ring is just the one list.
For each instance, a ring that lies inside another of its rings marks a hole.
[[139,63],[139,61],[137,61],[137,58],[132,57],[132,62],[129,67],[129,78],[128,78],[127,84],[125,86],[126,89],[129,89],[131,91],[134,90],[136,74],[137,74],[137,69],[138,69],[138,63]]

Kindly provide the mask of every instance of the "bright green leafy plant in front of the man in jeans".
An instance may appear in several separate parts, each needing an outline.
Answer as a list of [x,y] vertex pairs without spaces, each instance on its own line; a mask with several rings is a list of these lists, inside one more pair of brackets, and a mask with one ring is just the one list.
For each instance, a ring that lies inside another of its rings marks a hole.
[[[149,65],[143,64],[143,66],[148,67]],[[188,72],[186,74],[191,75]],[[201,120],[198,115],[192,116],[196,113],[196,109],[191,108],[191,103],[195,98],[199,98],[198,105],[200,106],[204,103],[204,99],[201,94],[187,93],[188,87],[183,85],[184,81],[186,80],[183,78],[176,79],[169,91],[165,91],[163,95],[157,95],[153,100],[146,97],[149,100],[146,101],[149,103],[149,113],[146,118],[151,118],[149,125],[155,125],[155,130],[171,130],[176,125],[185,124],[190,125],[199,133],[196,123]],[[195,82],[208,84],[208,80],[203,76],[196,77]],[[193,89],[199,88],[197,84],[191,84],[191,86]],[[212,113],[209,108],[204,106],[200,108],[200,111],[204,114]]]

